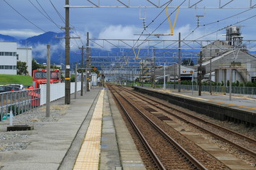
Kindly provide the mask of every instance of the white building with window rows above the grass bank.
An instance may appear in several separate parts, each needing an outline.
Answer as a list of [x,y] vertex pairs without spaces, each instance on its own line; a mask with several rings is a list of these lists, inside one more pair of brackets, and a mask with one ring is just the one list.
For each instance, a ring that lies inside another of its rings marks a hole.
[[32,48],[18,48],[17,42],[0,42],[0,74],[17,74],[17,61],[26,62],[32,75]]

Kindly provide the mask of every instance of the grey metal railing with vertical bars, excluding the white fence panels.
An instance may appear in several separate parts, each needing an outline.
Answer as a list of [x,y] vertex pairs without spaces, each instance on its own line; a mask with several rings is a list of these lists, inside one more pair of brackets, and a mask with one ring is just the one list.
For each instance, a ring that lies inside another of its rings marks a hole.
[[9,118],[11,110],[19,115],[40,106],[40,92],[40,89],[31,89],[0,93],[0,121]]

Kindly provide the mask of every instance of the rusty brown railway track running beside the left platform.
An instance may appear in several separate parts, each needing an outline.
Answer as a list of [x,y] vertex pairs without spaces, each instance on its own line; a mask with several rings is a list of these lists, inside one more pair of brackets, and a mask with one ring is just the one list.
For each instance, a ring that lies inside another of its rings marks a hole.
[[[193,157],[192,154],[179,144],[182,141],[182,145],[187,145],[188,147],[188,145],[191,145],[191,141],[188,140],[184,142],[187,140],[186,137],[183,137],[182,140],[176,137],[176,139],[179,140],[177,142],[177,140],[174,139],[175,135],[170,135],[169,130],[162,127],[166,125],[165,123],[154,120],[154,116],[149,112],[144,112],[142,108],[136,106],[136,102],[131,100],[131,98],[136,98],[135,96],[131,96],[130,93],[123,91],[123,89],[117,89],[117,87],[113,86],[108,87],[129,119],[132,127],[137,132],[139,138],[143,141],[144,146],[151,155],[150,157],[154,159],[157,169],[209,169],[209,167],[210,169],[227,169],[223,164],[220,164],[220,162],[214,162],[213,160],[204,161],[206,166],[201,164],[198,159]],[[176,135],[180,134],[176,132]],[[198,148],[194,147],[193,149]],[[205,152],[202,153],[206,154]],[[202,159],[206,159],[206,156],[202,153],[201,155],[199,154],[200,156],[197,153],[196,155]],[[213,166],[215,167],[213,168]]]

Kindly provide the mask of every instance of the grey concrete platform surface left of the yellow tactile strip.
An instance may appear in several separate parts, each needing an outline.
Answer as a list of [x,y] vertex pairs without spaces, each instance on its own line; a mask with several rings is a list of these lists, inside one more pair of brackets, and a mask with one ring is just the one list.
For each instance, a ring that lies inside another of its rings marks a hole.
[[[28,146],[25,149],[0,152],[0,169],[58,169],[68,149],[70,149],[80,126],[87,118],[87,113],[89,113],[90,109],[94,109],[92,107],[93,103],[97,101],[97,96],[101,89],[102,88],[92,89],[90,92],[84,94],[84,96],[80,96],[80,92],[78,92],[76,99],[74,99],[72,95],[68,109],[65,113],[62,113],[63,116],[61,116],[58,121],[40,122],[38,123],[40,125],[35,125],[34,130],[29,131],[1,132],[0,135],[6,135],[7,133],[26,135],[25,138],[14,139],[14,142],[26,142]],[[61,108],[64,106],[64,103],[64,98],[62,98],[51,103],[51,105],[58,105]],[[40,112],[40,110],[36,109],[33,112]],[[16,122],[14,121],[14,123]],[[7,126],[6,124],[7,123],[1,123],[1,128]],[[6,141],[2,140],[0,142]],[[73,166],[67,169],[73,169]]]

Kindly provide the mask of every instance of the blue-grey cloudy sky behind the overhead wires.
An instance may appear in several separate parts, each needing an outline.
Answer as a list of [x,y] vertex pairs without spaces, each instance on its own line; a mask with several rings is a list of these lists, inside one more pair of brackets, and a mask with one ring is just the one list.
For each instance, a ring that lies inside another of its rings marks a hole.
[[[119,1],[129,6],[142,7],[70,8],[70,23],[72,27],[75,27],[72,32],[80,35],[82,42],[85,42],[87,32],[90,33],[90,38],[137,40],[139,38],[137,34],[144,30],[142,18],[145,18],[145,26],[147,26],[143,33],[170,33],[164,8],[145,8],[144,6],[154,6],[147,0],[90,1],[96,5],[100,2],[100,6],[104,7],[123,6]],[[186,40],[225,40],[223,36],[225,29],[222,29],[235,23],[241,26],[244,40],[256,40],[256,9],[247,8],[255,7],[256,0],[151,0],[151,2],[157,6],[166,6],[166,4],[169,4],[169,7],[181,6],[174,28],[174,36],[161,36],[161,40],[177,40],[179,32],[181,38],[186,38]],[[199,3],[196,4],[197,2]],[[196,5],[193,6],[193,4]],[[0,0],[0,34],[24,39],[48,31],[60,33],[63,31],[60,27],[65,27],[64,6],[65,0]],[[70,6],[88,7],[93,4],[85,0],[72,0]],[[187,8],[188,6],[191,8]],[[216,8],[219,6],[223,8]],[[169,8],[172,24],[176,12],[176,8]],[[196,16],[201,16],[198,28]],[[146,36],[141,38],[146,38]]]

